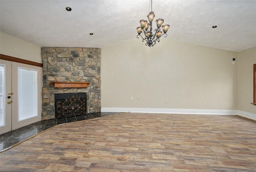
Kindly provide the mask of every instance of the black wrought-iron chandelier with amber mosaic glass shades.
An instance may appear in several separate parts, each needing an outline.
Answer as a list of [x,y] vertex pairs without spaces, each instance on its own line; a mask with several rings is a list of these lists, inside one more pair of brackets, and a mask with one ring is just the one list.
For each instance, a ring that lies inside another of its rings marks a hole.
[[[157,19],[156,20],[156,26],[157,28],[154,29],[154,33],[152,32],[152,21],[154,20],[154,12],[152,11],[152,0],[151,0],[151,12],[148,14],[148,21],[146,20],[140,20],[140,27],[137,27],[137,38],[141,37],[142,38],[142,42],[146,41],[146,44],[148,47],[153,47],[156,44],[156,41],[160,42],[159,38],[162,37],[164,35],[164,37],[167,37],[166,32],[168,31],[170,25],[166,24],[166,25],[162,25],[164,23],[163,19]],[[164,32],[164,34],[162,34],[161,31],[161,27],[162,27],[162,31]],[[149,29],[149,31],[148,31]],[[140,35],[142,33],[142,35]]]

